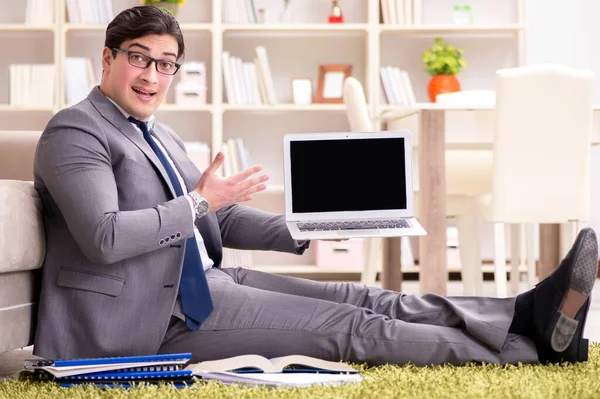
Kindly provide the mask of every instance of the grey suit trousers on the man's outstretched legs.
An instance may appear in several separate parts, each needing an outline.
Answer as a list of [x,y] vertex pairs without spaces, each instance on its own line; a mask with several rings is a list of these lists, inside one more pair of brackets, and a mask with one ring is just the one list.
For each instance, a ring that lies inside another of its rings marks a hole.
[[404,295],[241,268],[207,271],[214,311],[197,331],[172,317],[160,353],[193,362],[301,354],[371,365],[535,363],[535,344],[509,334],[514,298]]

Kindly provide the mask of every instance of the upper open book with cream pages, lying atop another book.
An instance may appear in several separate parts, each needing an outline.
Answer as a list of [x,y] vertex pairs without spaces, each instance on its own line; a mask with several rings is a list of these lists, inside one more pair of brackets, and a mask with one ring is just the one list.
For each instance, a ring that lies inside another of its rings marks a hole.
[[185,370],[199,372],[229,371],[236,373],[326,373],[357,374],[349,364],[332,362],[303,355],[267,359],[260,355],[241,355],[219,360],[207,360],[188,365]]

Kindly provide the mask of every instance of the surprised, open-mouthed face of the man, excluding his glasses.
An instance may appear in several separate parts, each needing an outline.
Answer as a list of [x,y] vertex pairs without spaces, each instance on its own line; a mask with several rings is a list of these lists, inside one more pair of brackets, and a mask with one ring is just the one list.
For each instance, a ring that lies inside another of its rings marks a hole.
[[[127,40],[120,49],[155,59],[177,61],[177,41],[171,35],[148,35]],[[125,112],[147,121],[165,98],[173,76],[158,72],[156,62],[148,68],[138,68],[129,63],[129,55],[117,52],[113,58],[112,53],[109,48],[104,48],[102,53],[104,73],[100,90]]]

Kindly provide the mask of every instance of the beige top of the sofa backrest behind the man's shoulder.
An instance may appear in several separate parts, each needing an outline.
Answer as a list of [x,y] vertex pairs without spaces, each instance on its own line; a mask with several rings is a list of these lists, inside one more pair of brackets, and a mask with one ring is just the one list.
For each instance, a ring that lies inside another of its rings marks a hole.
[[33,159],[41,132],[0,131],[0,179],[33,180]]

